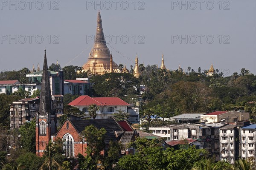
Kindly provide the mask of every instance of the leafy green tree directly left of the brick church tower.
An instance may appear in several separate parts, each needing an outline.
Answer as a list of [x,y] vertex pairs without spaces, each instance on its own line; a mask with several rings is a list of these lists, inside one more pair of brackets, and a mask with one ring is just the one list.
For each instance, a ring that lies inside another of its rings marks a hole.
[[25,122],[19,129],[20,143],[22,148],[28,152],[35,153],[35,120]]

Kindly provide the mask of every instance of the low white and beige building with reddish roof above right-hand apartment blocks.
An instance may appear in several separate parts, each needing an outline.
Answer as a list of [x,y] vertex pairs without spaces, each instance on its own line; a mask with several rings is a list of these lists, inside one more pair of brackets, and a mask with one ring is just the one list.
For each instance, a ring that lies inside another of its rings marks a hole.
[[201,122],[218,123],[218,122],[238,122],[250,119],[250,114],[238,111],[215,111],[201,115]]

